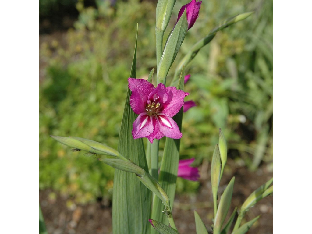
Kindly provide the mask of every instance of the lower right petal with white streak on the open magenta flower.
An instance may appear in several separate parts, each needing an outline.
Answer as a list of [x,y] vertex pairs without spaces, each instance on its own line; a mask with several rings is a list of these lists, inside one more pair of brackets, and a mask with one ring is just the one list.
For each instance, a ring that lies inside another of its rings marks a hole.
[[182,133],[180,132],[177,123],[169,115],[160,113],[156,115],[156,119],[161,134],[173,139],[180,139],[182,137]]

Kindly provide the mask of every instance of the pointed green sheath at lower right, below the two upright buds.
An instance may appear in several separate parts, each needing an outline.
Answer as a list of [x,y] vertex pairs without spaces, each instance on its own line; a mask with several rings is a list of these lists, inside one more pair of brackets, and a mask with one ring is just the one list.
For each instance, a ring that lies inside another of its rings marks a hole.
[[232,200],[234,180],[235,177],[231,179],[230,183],[227,185],[227,188],[224,190],[221,196],[219,207],[217,210],[217,215],[214,220],[214,228],[213,228],[214,234],[220,233],[223,222],[227,217],[227,212],[229,211]]

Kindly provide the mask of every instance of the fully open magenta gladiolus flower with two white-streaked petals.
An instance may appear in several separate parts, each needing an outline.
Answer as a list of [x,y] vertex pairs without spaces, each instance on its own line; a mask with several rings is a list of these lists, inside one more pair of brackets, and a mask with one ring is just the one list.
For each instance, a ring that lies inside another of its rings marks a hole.
[[133,123],[134,139],[147,137],[151,143],[163,136],[173,139],[182,137],[177,123],[172,119],[184,104],[189,93],[176,87],[154,85],[144,79],[129,78],[130,106],[138,118]]

